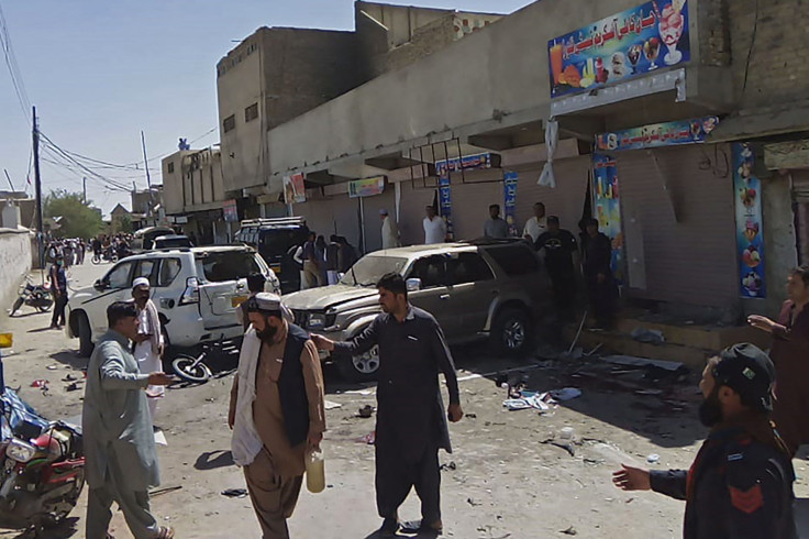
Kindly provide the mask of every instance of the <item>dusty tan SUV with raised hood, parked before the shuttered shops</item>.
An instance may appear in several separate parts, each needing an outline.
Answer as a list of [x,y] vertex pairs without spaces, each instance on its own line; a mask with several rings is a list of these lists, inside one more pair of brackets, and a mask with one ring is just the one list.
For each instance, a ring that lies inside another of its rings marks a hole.
[[[532,324],[552,305],[542,263],[522,240],[377,251],[362,257],[337,285],[289,294],[284,304],[304,329],[346,341],[381,311],[376,283],[389,272],[408,279],[410,301],[437,319],[451,343],[488,339],[498,352],[527,353]],[[337,366],[351,381],[374,380],[378,351],[337,360]]]

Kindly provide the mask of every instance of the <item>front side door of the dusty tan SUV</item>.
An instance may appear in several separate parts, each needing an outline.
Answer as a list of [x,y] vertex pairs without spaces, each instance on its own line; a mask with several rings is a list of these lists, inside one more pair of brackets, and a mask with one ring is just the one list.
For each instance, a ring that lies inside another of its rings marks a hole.
[[410,302],[430,312],[439,321],[447,339],[455,339],[459,321],[446,280],[446,256],[434,254],[417,260],[407,278],[421,279],[421,289],[408,294]]

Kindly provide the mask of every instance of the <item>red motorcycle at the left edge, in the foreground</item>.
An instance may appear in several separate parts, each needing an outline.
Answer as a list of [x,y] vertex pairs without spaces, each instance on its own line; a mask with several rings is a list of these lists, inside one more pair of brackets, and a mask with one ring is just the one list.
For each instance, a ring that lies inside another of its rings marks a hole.
[[81,429],[47,421],[13,389],[2,395],[0,528],[58,526],[85,486]]

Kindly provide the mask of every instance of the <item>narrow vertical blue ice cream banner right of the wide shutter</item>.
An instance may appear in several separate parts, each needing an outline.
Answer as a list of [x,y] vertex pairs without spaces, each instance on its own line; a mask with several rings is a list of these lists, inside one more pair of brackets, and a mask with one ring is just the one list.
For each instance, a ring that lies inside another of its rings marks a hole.
[[764,223],[762,182],[753,174],[755,156],[749,144],[733,144],[733,196],[742,297],[764,298]]

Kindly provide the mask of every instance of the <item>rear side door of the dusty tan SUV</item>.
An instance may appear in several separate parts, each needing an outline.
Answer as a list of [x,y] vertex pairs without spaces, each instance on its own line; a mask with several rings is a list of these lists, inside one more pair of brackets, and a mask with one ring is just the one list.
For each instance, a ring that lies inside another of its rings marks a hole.
[[495,273],[477,252],[463,252],[446,261],[446,277],[452,307],[461,321],[459,338],[474,338],[486,327],[498,294]]

